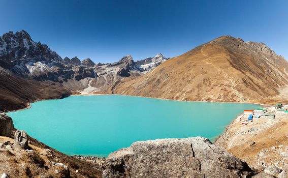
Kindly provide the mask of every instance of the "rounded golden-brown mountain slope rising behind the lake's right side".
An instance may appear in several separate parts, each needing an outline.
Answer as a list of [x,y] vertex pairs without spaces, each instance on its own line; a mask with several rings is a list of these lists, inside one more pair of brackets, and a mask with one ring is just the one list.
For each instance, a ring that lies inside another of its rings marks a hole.
[[222,36],[124,79],[109,93],[187,101],[255,101],[279,94],[288,63],[264,43]]

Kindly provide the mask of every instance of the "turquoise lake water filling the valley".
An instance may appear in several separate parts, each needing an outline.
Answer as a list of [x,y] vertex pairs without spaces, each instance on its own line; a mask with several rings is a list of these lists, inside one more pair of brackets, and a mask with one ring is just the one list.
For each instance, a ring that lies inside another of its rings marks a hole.
[[118,95],[72,96],[9,112],[15,128],[68,155],[107,156],[138,140],[214,139],[243,103],[179,102]]

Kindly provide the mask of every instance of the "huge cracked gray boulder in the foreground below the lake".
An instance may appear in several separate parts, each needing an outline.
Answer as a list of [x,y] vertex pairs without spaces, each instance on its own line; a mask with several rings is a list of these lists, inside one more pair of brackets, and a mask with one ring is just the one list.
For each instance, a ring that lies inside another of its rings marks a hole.
[[202,137],[138,141],[111,153],[103,177],[245,177],[245,162]]

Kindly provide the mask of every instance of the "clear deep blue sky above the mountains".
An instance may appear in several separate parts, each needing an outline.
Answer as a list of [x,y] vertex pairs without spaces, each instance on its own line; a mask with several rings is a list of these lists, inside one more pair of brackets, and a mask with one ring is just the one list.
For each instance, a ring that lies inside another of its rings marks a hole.
[[61,57],[115,62],[180,55],[222,35],[288,59],[288,1],[1,0],[0,34],[24,29]]

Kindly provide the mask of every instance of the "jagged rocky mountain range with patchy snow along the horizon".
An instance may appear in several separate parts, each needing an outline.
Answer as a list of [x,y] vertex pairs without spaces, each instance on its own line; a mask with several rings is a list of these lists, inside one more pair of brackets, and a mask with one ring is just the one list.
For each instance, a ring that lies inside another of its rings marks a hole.
[[[0,66],[18,76],[29,76],[36,80],[52,80],[62,83],[68,79],[79,81],[87,77],[95,78],[99,70],[103,71],[104,66],[110,68],[114,66],[113,72],[119,76],[130,76],[131,71],[148,71],[166,60],[167,58],[162,54],[158,54],[153,58],[139,61],[141,65],[137,65],[131,56],[126,56],[117,63],[95,66],[89,58],[82,62],[77,56],[62,59],[47,45],[34,42],[25,31],[15,34],[9,32],[0,37]],[[101,69],[99,69],[100,66],[102,66]]]

